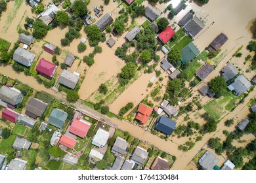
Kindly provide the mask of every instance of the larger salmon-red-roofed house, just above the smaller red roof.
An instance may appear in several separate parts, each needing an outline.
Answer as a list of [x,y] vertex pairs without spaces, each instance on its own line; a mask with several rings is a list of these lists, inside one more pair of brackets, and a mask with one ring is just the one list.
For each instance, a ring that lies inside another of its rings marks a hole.
[[77,135],[77,136],[83,138],[89,131],[90,127],[91,127],[91,123],[89,123],[85,120],[74,119],[72,124],[70,125],[70,129],[68,131],[70,133],[73,133],[74,135]]

